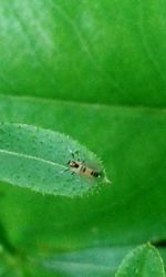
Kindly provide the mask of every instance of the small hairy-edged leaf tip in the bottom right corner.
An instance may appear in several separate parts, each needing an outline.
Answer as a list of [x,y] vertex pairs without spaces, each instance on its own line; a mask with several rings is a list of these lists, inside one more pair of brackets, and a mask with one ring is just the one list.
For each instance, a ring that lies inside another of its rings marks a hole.
[[158,250],[149,244],[135,248],[123,259],[115,277],[165,277]]

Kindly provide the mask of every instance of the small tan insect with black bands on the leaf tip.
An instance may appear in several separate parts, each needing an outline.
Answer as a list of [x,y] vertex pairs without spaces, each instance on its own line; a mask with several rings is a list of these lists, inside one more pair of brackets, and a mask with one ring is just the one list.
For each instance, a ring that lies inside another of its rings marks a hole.
[[85,164],[85,161],[75,161],[74,154],[72,153],[73,160],[68,161],[69,167],[72,170],[72,174],[77,173],[87,177],[102,177],[102,172],[94,170],[92,167],[89,167]]

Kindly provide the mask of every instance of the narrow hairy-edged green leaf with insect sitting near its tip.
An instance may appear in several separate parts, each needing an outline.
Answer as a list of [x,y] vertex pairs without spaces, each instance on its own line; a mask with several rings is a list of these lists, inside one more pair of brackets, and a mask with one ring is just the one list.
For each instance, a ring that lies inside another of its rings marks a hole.
[[101,161],[70,136],[0,124],[0,179],[42,194],[82,196],[108,183]]

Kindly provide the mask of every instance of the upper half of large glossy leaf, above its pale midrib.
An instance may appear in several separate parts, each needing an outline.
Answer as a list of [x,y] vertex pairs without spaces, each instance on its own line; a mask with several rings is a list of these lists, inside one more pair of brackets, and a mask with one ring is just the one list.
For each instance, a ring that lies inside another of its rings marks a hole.
[[164,106],[165,9],[165,0],[0,1],[0,91]]

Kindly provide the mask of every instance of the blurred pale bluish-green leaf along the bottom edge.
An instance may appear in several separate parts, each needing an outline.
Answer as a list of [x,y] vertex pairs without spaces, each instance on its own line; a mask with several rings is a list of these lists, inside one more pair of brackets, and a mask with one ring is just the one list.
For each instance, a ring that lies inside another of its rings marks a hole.
[[59,253],[49,257],[40,257],[42,267],[50,269],[56,276],[111,277],[121,263],[128,247],[101,247]]

